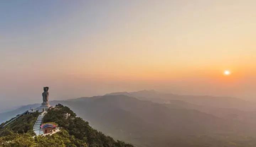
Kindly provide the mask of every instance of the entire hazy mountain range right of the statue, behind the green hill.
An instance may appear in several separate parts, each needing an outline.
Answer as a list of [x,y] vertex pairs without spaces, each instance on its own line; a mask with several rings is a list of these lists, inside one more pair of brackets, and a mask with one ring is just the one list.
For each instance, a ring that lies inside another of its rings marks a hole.
[[256,146],[253,106],[236,98],[229,106],[230,99],[144,90],[50,104],[68,106],[93,128],[137,147]]

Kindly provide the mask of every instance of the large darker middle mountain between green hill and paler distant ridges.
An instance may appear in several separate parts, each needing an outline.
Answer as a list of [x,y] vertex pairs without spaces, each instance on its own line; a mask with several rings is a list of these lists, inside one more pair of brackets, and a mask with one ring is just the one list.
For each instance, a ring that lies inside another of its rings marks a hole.
[[256,145],[240,122],[179,105],[166,106],[126,95],[53,102],[71,107],[94,128],[138,147],[243,147],[249,141],[248,147]]

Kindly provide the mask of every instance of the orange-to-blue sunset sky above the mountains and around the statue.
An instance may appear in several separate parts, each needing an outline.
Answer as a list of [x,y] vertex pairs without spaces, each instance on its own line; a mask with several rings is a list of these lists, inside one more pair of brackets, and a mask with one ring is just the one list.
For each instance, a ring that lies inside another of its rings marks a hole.
[[[0,1],[0,111],[155,89],[255,99],[254,0]],[[231,75],[223,72],[230,70]]]

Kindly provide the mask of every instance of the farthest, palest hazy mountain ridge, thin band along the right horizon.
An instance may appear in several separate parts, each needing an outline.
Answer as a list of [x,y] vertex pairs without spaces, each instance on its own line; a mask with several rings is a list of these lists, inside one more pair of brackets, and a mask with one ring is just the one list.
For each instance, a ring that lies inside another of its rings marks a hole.
[[150,100],[159,103],[172,103],[173,100],[181,100],[194,105],[218,108],[235,108],[238,110],[255,111],[256,104],[254,102],[232,98],[232,97],[216,97],[216,96],[197,96],[197,95],[177,95],[169,93],[160,93],[155,90],[142,90],[138,92],[118,92],[106,95],[127,95],[140,100]]

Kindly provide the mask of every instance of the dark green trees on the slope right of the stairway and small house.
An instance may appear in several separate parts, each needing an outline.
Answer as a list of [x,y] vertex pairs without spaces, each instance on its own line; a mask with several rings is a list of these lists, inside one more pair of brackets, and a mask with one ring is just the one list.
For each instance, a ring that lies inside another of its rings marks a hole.
[[[70,114],[69,118],[64,116],[66,113]],[[89,145],[90,147],[133,147],[124,142],[116,142],[111,137],[98,132],[90,127],[88,122],[80,117],[76,117],[76,114],[70,108],[61,104],[48,110],[44,116],[43,123],[49,121],[58,123],[59,127],[67,130],[69,135],[72,136],[70,141],[73,145],[79,147],[85,145]]]

